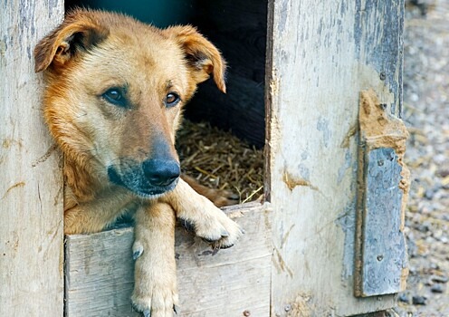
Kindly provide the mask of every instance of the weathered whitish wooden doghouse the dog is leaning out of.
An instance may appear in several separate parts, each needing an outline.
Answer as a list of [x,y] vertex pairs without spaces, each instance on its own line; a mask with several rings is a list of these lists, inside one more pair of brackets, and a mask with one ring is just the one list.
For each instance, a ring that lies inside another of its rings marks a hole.
[[[406,278],[406,173],[402,145],[377,141],[406,133],[366,123],[401,112],[404,1],[192,5],[230,63],[225,120],[213,123],[264,144],[266,175],[265,203],[228,210],[246,231],[238,245],[213,252],[177,233],[181,315],[393,307]],[[33,73],[35,43],[62,16],[62,0],[1,4],[0,316],[134,316],[132,228],[66,236],[64,252],[60,159]],[[197,102],[216,103],[211,91]],[[359,120],[359,109],[381,118]],[[247,124],[230,126],[238,120]]]

